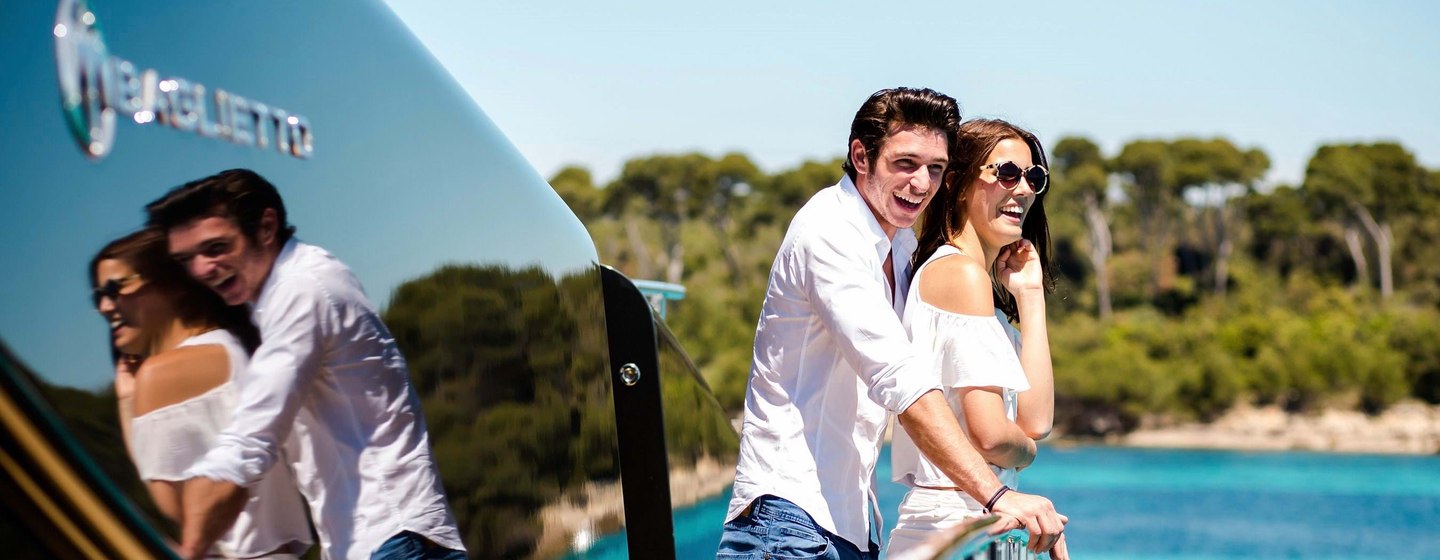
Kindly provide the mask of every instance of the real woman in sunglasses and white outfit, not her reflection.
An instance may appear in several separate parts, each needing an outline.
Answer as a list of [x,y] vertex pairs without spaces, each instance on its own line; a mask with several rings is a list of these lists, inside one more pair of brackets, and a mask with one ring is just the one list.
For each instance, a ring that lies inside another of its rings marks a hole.
[[[952,161],[917,233],[904,325],[933,356],[971,443],[1001,484],[1015,488],[1017,471],[1035,459],[1035,441],[1054,419],[1045,154],[1028,131],[972,119],[960,125]],[[986,514],[904,430],[896,430],[891,453],[894,479],[910,492],[890,533],[890,559],[929,557],[943,544],[942,531]],[[1066,557],[1063,538],[1054,556]]]

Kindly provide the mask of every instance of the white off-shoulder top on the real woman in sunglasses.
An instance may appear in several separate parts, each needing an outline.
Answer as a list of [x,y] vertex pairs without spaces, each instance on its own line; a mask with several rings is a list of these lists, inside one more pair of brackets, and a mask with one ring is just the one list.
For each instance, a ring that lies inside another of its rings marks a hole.
[[[1005,416],[1014,420],[1017,393],[1030,389],[1025,370],[1020,366],[1020,331],[1001,310],[995,310],[994,315],[965,315],[936,308],[920,298],[920,275],[932,262],[950,255],[960,255],[960,250],[950,245],[940,246],[920,265],[910,282],[903,320],[910,331],[910,343],[916,353],[930,356],[932,371],[939,377],[945,400],[960,426],[965,426],[965,412],[955,397],[959,387],[1001,387]],[[955,487],[949,477],[920,453],[903,429],[894,430],[890,452],[896,482],[910,487]],[[991,469],[1001,484],[1018,488],[1015,469],[995,465]],[[969,495],[965,500],[975,510],[984,507]]]

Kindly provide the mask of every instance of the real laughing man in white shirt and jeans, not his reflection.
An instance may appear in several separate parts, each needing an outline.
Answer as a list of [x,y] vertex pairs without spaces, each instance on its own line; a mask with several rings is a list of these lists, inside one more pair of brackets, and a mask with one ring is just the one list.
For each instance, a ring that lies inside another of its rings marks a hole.
[[930,89],[876,92],[851,124],[845,177],[791,222],[756,328],[721,556],[876,559],[887,410],[958,487],[1027,527],[1032,550],[1064,528],[1048,500],[995,478],[900,322],[910,226],[942,187],[959,119]]

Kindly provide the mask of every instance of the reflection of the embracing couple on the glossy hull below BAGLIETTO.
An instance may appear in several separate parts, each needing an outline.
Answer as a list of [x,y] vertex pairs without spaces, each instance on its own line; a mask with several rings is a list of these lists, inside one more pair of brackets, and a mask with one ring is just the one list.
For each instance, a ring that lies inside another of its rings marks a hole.
[[297,557],[308,504],[325,559],[462,559],[405,358],[350,269],[292,239],[248,170],[147,210],[91,276],[131,456],[177,551]]

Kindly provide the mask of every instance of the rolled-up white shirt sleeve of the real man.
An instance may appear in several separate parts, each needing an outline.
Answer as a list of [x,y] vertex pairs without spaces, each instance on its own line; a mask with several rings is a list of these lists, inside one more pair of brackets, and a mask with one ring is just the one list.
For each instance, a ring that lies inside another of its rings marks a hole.
[[878,265],[864,255],[868,248],[857,248],[855,242],[845,236],[802,236],[793,256],[816,317],[864,380],[868,397],[900,413],[939,383],[929,363],[916,356],[886,298]]

